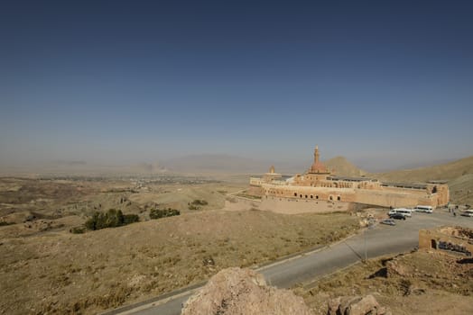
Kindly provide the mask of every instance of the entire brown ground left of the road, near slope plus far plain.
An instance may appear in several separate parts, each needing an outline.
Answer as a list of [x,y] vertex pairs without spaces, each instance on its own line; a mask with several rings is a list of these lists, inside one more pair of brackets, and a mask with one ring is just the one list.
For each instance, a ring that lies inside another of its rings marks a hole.
[[[171,181],[171,180],[170,180]],[[234,183],[133,180],[0,181],[0,313],[92,314],[196,284],[229,266],[254,266],[344,238],[348,213],[223,211]],[[161,199],[160,199],[161,198]],[[209,204],[187,208],[193,199]],[[146,204],[175,202],[180,216],[146,220]],[[143,220],[71,234],[92,211],[114,207]],[[337,232],[335,232],[337,231]]]

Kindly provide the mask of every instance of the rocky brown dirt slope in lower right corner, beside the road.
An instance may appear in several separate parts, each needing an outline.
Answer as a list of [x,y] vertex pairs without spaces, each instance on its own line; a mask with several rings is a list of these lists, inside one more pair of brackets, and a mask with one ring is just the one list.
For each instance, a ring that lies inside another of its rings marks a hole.
[[473,261],[441,252],[417,251],[372,259],[300,286],[314,314],[344,295],[373,294],[393,314],[472,314]]

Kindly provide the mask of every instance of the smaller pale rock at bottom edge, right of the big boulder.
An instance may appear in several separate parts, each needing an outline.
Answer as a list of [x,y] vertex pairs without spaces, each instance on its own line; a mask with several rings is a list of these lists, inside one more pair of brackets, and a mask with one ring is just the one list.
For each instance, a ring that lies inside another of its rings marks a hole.
[[343,296],[329,300],[327,315],[392,315],[373,295]]

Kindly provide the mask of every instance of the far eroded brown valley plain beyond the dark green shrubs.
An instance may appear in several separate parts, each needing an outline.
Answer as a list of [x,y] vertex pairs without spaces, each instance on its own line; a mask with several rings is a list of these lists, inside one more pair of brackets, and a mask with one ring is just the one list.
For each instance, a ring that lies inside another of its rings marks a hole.
[[[135,178],[0,178],[0,222],[12,224],[8,236],[31,236],[48,230],[79,226],[94,211],[121,210],[149,220],[149,209],[160,207],[191,212],[189,203],[208,202],[199,210],[222,209],[227,193],[246,187],[181,175],[159,180]],[[13,225],[14,223],[14,225]],[[0,230],[0,237],[3,235]]]

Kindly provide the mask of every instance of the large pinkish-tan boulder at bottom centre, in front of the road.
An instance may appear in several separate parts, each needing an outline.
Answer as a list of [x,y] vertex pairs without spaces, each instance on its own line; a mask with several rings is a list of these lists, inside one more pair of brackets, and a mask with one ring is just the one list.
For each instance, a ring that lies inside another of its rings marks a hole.
[[267,286],[262,275],[250,269],[228,268],[214,275],[190,297],[181,315],[310,315],[301,297]]

